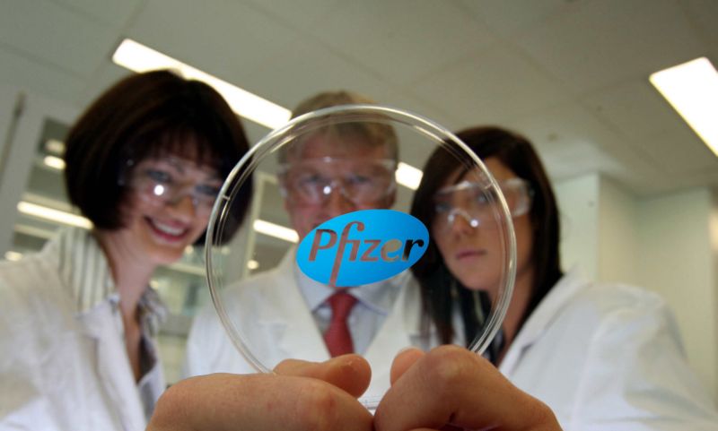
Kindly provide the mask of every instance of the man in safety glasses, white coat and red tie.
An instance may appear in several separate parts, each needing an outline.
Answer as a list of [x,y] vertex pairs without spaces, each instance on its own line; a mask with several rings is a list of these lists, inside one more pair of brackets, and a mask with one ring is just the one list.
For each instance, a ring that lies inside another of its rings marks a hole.
[[[371,104],[372,100],[346,91],[325,92],[302,102],[293,115],[356,103]],[[387,209],[394,203],[398,142],[390,125],[326,125],[282,147],[277,157],[285,209],[300,241],[312,229],[339,215]],[[242,310],[275,310],[270,323],[260,325],[254,319],[250,324],[255,326],[248,330],[250,337],[257,338],[250,343],[261,362],[274,366],[284,358],[320,361],[346,353],[361,354],[370,363],[372,358],[383,357],[390,362],[396,350],[412,343],[403,330],[403,317],[393,314],[399,306],[399,293],[411,280],[408,273],[337,290],[307,277],[296,263],[295,252],[293,247],[275,269],[243,281],[237,289],[262,291],[261,299],[238,296],[237,301],[245,301]],[[246,301],[256,304],[248,307]],[[418,304],[417,300],[413,302]],[[398,315],[404,315],[403,309]],[[270,332],[274,334],[271,337],[262,335]],[[262,337],[274,339],[260,340]],[[390,363],[386,365],[388,368]],[[197,316],[190,332],[185,371],[201,375],[254,370],[224,334],[215,310],[207,308]],[[389,382],[388,375],[386,381]]]

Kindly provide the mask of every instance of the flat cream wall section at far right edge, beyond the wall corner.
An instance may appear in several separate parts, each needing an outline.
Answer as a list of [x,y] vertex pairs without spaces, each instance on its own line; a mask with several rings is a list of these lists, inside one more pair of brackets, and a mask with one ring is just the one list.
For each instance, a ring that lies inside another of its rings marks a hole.
[[711,244],[710,190],[699,188],[637,205],[641,284],[666,298],[679,323],[688,361],[718,393],[718,279]]

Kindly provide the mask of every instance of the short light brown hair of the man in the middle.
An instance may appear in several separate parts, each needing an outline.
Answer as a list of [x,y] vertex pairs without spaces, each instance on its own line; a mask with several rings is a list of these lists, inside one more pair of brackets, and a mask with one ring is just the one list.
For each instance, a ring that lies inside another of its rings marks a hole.
[[[311,111],[322,108],[331,108],[341,105],[374,105],[376,102],[352,91],[323,91],[302,100],[292,111],[292,117],[302,116]],[[320,129],[320,133],[333,134],[337,136],[360,136],[363,137],[369,146],[383,146],[386,149],[387,159],[398,162],[398,139],[394,128],[391,125],[376,123],[343,123],[340,125],[328,125]],[[277,151],[277,161],[285,164],[295,157],[297,151],[302,151],[302,144],[284,145]]]

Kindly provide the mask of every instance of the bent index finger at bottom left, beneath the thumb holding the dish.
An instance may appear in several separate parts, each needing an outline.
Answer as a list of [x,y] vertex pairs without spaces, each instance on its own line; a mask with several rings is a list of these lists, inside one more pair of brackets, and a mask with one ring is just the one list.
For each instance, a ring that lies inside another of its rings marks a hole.
[[372,431],[372,415],[349,393],[319,379],[203,375],[162,394],[147,431]]

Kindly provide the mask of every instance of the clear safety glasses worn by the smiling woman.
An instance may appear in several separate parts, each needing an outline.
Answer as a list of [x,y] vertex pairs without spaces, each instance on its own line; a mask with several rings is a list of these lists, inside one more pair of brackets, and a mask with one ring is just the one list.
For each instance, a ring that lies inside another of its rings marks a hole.
[[[127,162],[128,167],[134,164],[133,160]],[[189,196],[197,214],[207,215],[215,204],[221,180],[214,169],[198,168],[187,160],[146,159],[132,168],[127,186],[144,202],[156,206],[175,204]]]

